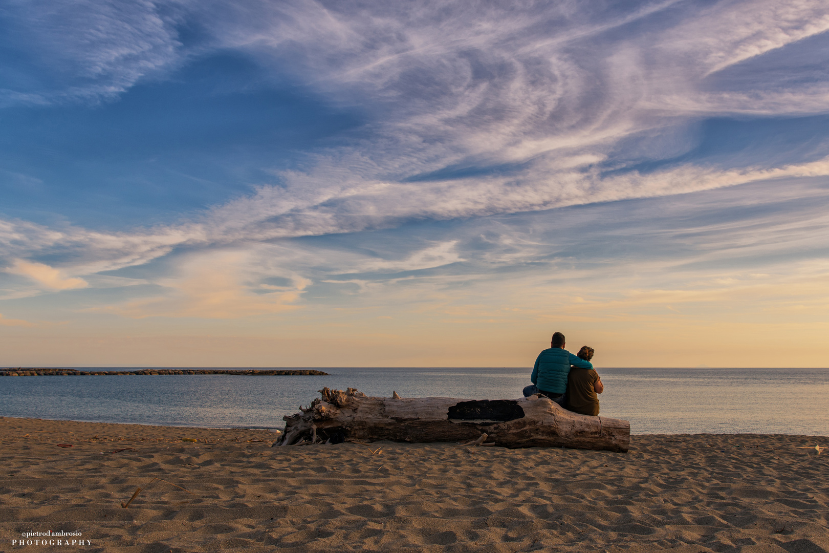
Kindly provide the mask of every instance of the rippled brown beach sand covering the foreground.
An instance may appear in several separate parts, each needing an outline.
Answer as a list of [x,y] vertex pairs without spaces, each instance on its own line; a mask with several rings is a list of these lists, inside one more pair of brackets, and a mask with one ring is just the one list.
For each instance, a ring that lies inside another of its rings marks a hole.
[[[0,422],[0,551],[829,551],[829,451],[800,449],[827,437],[270,448],[264,430]],[[12,546],[24,531],[91,545]]]

